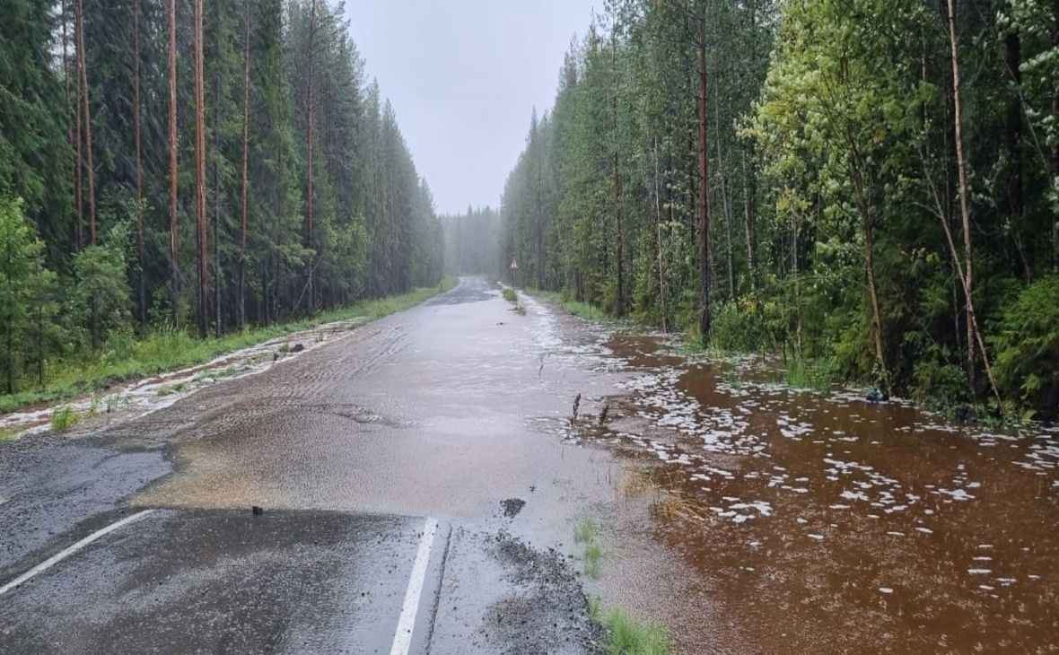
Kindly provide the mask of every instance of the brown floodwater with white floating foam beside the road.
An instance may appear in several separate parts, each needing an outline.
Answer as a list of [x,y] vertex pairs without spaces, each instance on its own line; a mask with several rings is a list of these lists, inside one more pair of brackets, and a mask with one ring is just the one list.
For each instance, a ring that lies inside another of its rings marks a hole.
[[[1059,430],[794,390],[760,359],[687,362],[649,336],[607,345],[631,376],[589,439],[639,462],[653,538],[747,652],[1059,652]],[[694,599],[666,612],[683,652],[715,640]]]

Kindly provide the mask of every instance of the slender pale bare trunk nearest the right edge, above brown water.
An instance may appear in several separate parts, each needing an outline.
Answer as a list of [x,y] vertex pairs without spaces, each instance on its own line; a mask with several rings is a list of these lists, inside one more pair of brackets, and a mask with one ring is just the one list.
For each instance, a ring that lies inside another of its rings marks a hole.
[[[959,98],[959,52],[958,52],[958,40],[956,38],[956,8],[955,0],[948,0],[949,3],[949,44],[952,48],[952,99],[954,107],[953,123],[955,124],[956,133],[956,166],[959,171],[959,212],[963,217],[964,224],[964,262],[965,272],[963,275],[964,284],[964,295],[967,298],[967,375],[968,384],[971,389],[972,396],[975,395],[974,385],[974,344],[977,342],[979,348],[982,351],[982,359],[985,363],[986,375],[989,378],[989,384],[992,386],[993,394],[997,397],[997,410],[999,412],[1004,411],[1003,402],[1001,402],[1000,392],[997,388],[997,382],[993,379],[992,368],[989,365],[989,356],[986,352],[986,347],[984,340],[982,339],[982,332],[977,326],[977,320],[974,315],[974,274],[971,267],[971,216],[970,208],[968,206],[967,200],[967,165],[964,159],[964,139],[963,139],[963,110],[961,108]],[[955,254],[955,253],[953,253]]]

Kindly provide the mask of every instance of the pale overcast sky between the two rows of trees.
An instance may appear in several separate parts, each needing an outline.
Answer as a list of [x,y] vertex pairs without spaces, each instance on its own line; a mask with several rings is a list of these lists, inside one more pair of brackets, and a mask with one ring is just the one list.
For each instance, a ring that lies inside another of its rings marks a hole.
[[353,39],[393,103],[438,213],[497,206],[534,107],[602,0],[346,0]]

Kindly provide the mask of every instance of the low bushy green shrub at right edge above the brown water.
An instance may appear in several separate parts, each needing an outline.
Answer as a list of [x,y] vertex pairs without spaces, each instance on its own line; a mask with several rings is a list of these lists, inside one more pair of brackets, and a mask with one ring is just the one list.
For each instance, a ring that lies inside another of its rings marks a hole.
[[998,382],[1029,407],[1059,406],[1059,275],[1022,290],[1008,305],[991,343]]

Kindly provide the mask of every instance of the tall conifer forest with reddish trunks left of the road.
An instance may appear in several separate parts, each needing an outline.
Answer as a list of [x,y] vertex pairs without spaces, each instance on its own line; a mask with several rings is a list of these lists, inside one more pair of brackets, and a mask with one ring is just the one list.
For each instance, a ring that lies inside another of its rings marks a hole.
[[4,2],[0,390],[434,284],[442,239],[326,0]]

